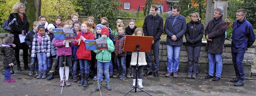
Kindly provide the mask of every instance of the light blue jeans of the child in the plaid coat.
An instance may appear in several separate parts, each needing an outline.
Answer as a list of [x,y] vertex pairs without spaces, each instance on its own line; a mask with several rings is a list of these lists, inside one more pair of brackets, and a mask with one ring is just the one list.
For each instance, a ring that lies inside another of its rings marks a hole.
[[36,54],[38,59],[38,70],[47,70],[46,54]]

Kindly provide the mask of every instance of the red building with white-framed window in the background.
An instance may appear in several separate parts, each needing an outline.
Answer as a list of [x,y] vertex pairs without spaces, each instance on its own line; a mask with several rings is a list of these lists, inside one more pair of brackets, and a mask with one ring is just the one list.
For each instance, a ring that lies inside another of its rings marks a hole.
[[[177,0],[162,0],[158,7],[161,7],[162,12],[168,12],[172,10],[173,3]],[[121,10],[137,11],[139,6],[145,6],[146,0],[120,0],[122,6],[119,8]],[[143,7],[140,7],[140,11],[143,11]],[[160,12],[160,8],[158,9]]]

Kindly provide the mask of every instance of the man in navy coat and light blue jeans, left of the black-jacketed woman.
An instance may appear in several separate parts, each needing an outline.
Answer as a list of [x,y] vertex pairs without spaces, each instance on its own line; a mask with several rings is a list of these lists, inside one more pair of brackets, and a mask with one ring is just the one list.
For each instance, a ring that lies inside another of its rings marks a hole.
[[183,45],[183,35],[186,33],[186,18],[180,15],[180,6],[172,8],[172,16],[166,18],[164,31],[167,34],[167,74],[166,77],[178,77],[180,48]]

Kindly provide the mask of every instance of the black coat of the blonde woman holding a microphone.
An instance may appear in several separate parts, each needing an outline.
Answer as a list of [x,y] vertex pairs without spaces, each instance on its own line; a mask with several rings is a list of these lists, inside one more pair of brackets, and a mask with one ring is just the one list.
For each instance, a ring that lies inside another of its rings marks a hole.
[[[13,23],[12,26],[12,31],[11,33],[14,35],[14,41],[13,43],[16,45],[15,49],[27,49],[28,46],[26,45],[26,43],[20,43],[20,39],[19,39],[19,34],[23,33],[26,35],[26,33],[29,30],[29,23],[28,23],[28,19],[26,14],[23,14],[23,22],[21,17],[19,16],[18,13],[14,14],[16,16],[16,22],[18,25],[16,25],[16,23]],[[10,20],[13,20],[15,18],[13,14],[10,14],[9,18]]]

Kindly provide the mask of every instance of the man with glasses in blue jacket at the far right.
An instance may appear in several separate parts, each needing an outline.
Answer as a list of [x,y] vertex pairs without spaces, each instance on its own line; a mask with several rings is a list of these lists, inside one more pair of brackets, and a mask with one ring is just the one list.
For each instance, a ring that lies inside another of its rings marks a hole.
[[236,12],[236,21],[233,23],[232,31],[232,62],[236,72],[236,78],[230,80],[235,86],[244,85],[244,53],[255,41],[255,34],[252,24],[245,18],[246,10],[239,9]]

